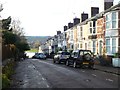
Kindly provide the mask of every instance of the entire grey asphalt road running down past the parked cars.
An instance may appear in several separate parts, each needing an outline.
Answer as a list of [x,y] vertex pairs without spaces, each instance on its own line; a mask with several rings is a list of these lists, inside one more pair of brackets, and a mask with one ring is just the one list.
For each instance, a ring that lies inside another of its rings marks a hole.
[[52,59],[20,61],[13,88],[118,88],[118,75],[53,64]]

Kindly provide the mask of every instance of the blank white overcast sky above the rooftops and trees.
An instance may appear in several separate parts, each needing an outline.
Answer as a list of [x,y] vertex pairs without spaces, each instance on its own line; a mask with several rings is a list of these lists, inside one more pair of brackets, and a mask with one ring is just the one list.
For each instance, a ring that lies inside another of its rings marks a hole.
[[[90,7],[100,7],[103,0],[0,0],[4,10],[2,18],[11,16],[21,21],[25,35],[53,36],[63,32],[63,26],[80,18],[82,12],[89,13]],[[117,4],[120,0],[114,0]]]

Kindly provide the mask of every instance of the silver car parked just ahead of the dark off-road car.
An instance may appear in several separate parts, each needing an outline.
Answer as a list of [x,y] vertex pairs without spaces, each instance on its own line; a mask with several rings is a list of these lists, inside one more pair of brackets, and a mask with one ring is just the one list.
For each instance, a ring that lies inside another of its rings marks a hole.
[[69,59],[70,53],[66,51],[59,51],[53,58],[53,63],[66,63],[67,59]]

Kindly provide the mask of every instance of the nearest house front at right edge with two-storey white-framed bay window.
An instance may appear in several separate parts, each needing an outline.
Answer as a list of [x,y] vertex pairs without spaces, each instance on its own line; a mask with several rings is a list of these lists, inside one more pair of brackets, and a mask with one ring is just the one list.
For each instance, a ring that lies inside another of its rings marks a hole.
[[105,14],[105,45],[108,56],[120,53],[120,3]]

